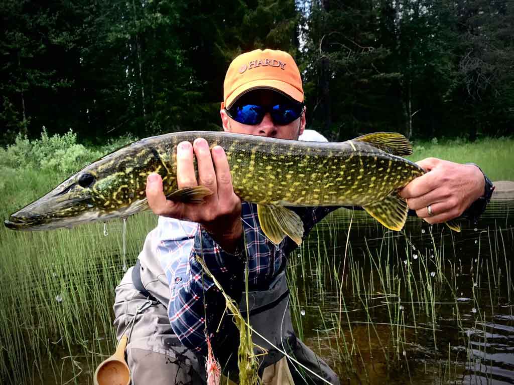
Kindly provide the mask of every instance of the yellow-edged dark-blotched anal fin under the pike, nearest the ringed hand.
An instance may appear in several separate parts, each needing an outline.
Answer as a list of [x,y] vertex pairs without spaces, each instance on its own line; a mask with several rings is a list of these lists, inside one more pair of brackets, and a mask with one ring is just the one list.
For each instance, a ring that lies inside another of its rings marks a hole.
[[407,220],[407,201],[394,191],[381,201],[362,206],[368,214],[391,230],[400,231]]

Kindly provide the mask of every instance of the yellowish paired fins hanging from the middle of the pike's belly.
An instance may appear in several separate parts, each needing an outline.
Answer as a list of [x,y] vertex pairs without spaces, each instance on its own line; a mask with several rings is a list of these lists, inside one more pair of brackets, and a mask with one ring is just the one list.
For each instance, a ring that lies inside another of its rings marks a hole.
[[257,205],[257,214],[264,235],[279,244],[287,235],[296,244],[302,243],[303,222],[294,211],[282,206]]

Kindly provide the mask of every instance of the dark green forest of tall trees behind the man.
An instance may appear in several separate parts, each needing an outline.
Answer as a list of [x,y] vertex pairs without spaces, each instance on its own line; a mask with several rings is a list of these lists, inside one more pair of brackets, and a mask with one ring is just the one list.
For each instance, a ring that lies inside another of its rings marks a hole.
[[297,60],[308,128],[331,140],[514,131],[507,0],[2,0],[0,144],[219,129],[237,54]]

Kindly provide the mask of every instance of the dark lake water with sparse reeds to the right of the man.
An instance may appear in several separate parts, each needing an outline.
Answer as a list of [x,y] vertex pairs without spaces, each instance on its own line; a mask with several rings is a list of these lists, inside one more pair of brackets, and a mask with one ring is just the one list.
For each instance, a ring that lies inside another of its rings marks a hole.
[[342,383],[514,383],[513,227],[513,201],[461,233],[338,210],[291,258],[298,329]]

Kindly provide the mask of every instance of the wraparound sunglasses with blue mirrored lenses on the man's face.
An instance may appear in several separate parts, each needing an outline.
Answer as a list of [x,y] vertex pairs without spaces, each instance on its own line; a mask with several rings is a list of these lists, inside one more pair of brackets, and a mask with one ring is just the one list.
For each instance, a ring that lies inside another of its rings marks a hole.
[[279,103],[273,106],[243,104],[234,105],[226,109],[226,111],[229,117],[236,122],[250,126],[261,123],[264,115],[269,112],[274,124],[284,126],[300,118],[303,107],[303,103]]

